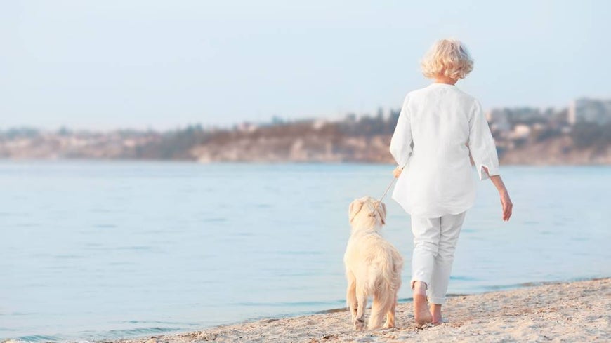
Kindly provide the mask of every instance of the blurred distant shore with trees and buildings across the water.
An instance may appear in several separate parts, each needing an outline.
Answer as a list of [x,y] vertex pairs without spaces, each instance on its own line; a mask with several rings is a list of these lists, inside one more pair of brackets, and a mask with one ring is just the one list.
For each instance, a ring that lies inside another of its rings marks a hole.
[[[0,130],[0,159],[395,163],[388,147],[397,118],[398,112],[386,119],[168,132]],[[495,131],[501,165],[611,165],[611,122],[557,124],[515,122],[513,131]]]

